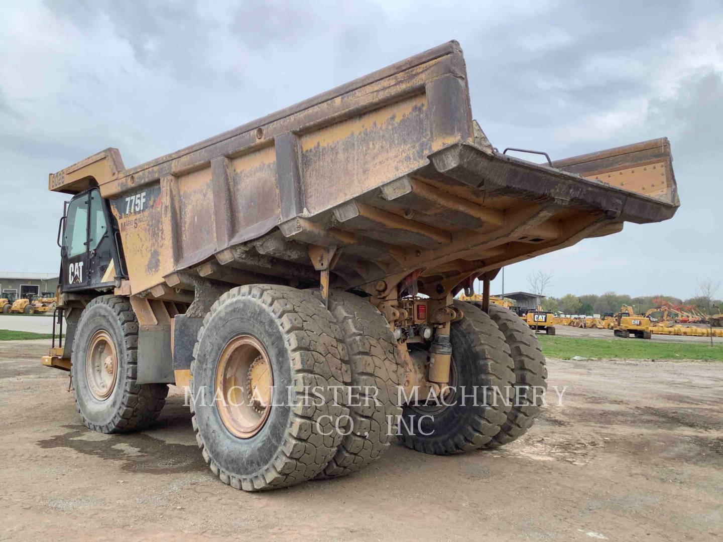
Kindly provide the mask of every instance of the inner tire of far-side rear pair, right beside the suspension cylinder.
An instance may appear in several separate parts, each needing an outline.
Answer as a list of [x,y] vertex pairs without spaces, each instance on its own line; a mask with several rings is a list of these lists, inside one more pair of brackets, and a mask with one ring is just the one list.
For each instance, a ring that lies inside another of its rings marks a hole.
[[[450,330],[455,375],[450,385],[456,389],[455,395],[446,400],[450,406],[429,411],[404,405],[399,424],[401,442],[428,454],[450,455],[483,447],[500,432],[511,408],[506,392],[512,390],[515,375],[505,336],[473,304],[455,301],[455,307],[464,312],[464,317],[453,322]],[[458,395],[461,387],[466,390],[464,400]],[[502,397],[495,395],[495,390]]]

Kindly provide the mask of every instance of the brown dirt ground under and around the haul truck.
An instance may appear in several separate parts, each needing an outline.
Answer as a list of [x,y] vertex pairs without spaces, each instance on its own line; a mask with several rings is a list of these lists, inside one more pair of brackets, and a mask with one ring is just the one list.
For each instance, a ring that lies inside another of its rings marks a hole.
[[723,365],[549,361],[567,386],[508,447],[393,445],[368,470],[265,494],[223,485],[174,390],[140,434],[80,426],[46,342],[0,343],[0,539],[671,540],[723,533]]

